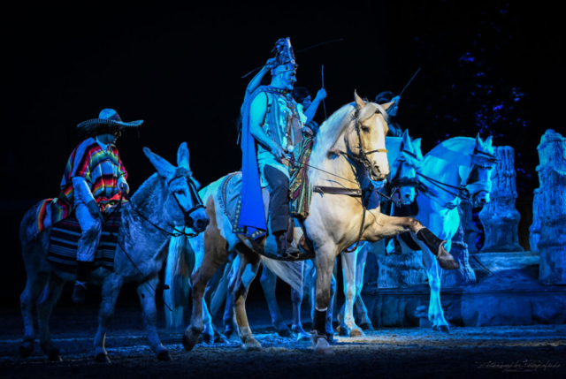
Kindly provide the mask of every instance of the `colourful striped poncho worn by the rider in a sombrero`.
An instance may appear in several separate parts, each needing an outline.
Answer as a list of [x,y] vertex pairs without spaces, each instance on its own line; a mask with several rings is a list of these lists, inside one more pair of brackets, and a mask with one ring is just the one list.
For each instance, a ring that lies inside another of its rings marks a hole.
[[63,220],[73,211],[75,177],[85,178],[92,200],[104,211],[111,208],[113,202],[119,201],[119,185],[126,181],[127,172],[120,160],[118,148],[109,145],[108,150],[103,150],[94,138],[83,140],[73,150],[65,166],[61,180],[61,193],[65,196],[44,200],[39,205],[37,233]]

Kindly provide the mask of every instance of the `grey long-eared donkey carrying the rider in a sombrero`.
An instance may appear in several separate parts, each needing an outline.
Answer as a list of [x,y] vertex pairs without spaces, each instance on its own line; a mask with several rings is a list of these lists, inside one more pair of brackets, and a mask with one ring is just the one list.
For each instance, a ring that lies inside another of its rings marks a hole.
[[[120,288],[126,282],[139,283],[138,295],[151,350],[157,353],[159,360],[171,360],[171,355],[157,335],[155,289],[157,274],[166,256],[164,246],[172,235],[174,225],[192,225],[192,230],[200,233],[210,222],[196,193],[195,179],[188,164],[187,144],[180,145],[179,167],[153,154],[149,148],[144,148],[143,152],[156,168],[157,174],[146,180],[123,207],[113,271],[101,267],[91,273],[92,283],[103,286],[94,343],[96,361],[110,361],[104,348],[104,338]],[[47,229],[38,235],[34,234],[36,213],[37,206],[27,211],[19,231],[27,271],[26,289],[20,296],[26,336],[19,352],[27,357],[34,350],[33,312],[37,306],[42,350],[50,360],[61,360],[57,347],[53,346],[50,339],[49,319],[63,284],[67,280],[74,280],[74,274],[57,269],[46,261],[51,231]]]

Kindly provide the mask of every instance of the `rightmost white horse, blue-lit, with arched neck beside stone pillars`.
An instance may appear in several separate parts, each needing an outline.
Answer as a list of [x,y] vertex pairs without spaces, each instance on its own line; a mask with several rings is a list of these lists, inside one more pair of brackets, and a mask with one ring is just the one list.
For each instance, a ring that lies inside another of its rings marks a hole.
[[[440,239],[447,240],[447,251],[450,251],[452,238],[460,224],[458,206],[461,199],[470,197],[473,207],[483,207],[489,202],[491,172],[496,162],[492,137],[484,141],[479,134],[475,140],[469,137],[445,140],[424,155],[421,170],[417,171],[421,184],[415,218],[429,225]],[[428,319],[434,330],[448,332],[450,327],[440,306],[442,271],[428,246],[415,236],[411,237],[423,251],[424,267],[431,287]]]

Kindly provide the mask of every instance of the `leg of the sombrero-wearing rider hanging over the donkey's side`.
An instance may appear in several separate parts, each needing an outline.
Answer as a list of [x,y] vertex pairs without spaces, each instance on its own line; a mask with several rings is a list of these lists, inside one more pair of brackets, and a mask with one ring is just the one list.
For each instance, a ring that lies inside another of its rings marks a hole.
[[85,302],[90,271],[95,266],[95,255],[100,240],[101,221],[90,215],[88,207],[80,201],[75,206],[75,216],[80,224],[77,248],[77,281],[74,284],[73,301]]

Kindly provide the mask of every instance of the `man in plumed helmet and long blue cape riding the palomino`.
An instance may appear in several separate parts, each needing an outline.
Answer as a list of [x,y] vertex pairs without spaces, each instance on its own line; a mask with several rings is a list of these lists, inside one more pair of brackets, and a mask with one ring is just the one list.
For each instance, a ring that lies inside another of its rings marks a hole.
[[241,150],[242,190],[238,228],[253,239],[265,235],[264,203],[261,188],[271,189],[272,233],[281,257],[297,256],[299,250],[287,246],[289,220],[289,171],[287,154],[302,140],[307,117],[291,96],[297,64],[289,38],[280,39],[273,49],[272,83],[258,87],[242,106]]

